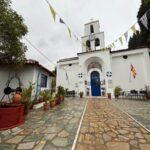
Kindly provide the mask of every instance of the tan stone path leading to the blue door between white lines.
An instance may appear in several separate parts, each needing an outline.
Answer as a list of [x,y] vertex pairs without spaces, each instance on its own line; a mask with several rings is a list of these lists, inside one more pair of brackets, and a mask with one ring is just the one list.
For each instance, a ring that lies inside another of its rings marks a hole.
[[150,150],[150,133],[109,100],[89,100],[76,150]]

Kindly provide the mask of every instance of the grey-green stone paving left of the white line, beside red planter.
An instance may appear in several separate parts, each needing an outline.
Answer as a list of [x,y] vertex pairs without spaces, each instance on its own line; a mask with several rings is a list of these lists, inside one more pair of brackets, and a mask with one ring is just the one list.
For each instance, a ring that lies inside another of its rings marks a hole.
[[0,132],[0,150],[71,149],[85,103],[71,98],[49,111],[31,111],[24,125]]

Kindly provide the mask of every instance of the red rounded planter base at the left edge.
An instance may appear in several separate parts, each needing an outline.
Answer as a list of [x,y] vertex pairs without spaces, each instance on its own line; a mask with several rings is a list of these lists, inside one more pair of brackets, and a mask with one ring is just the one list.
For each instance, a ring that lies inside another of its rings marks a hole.
[[24,123],[24,106],[7,104],[0,107],[0,131],[17,127]]

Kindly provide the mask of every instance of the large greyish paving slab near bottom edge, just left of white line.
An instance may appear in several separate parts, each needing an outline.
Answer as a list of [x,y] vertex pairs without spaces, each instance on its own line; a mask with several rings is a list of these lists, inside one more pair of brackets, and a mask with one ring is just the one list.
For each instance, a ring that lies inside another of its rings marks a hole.
[[68,140],[67,140],[67,138],[57,137],[57,138],[55,138],[55,139],[52,140],[52,143],[55,146],[58,146],[58,147],[66,147],[66,146],[68,146]]

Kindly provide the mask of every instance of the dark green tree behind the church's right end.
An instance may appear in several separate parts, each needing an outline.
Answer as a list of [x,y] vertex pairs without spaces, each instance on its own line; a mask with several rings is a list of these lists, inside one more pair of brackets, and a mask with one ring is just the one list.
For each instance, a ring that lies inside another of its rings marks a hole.
[[149,30],[147,30],[144,25],[139,21],[140,18],[150,9],[150,0],[142,0],[141,6],[139,8],[137,19],[140,26],[140,31],[137,31],[136,34],[129,40],[129,48],[138,48],[142,46],[150,47],[150,12],[147,13],[148,18],[148,26]]

